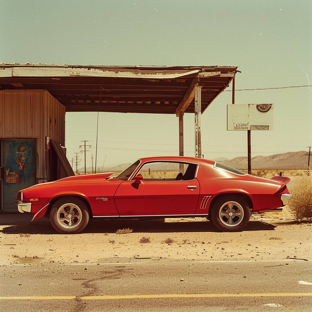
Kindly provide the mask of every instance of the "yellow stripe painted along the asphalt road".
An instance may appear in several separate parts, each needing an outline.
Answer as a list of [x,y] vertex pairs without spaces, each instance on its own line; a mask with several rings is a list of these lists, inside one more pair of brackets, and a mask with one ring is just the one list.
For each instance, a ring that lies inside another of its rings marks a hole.
[[[119,296],[85,296],[82,300],[121,300],[152,298],[225,298],[225,297],[310,297],[312,293],[247,293],[247,294],[155,294],[155,295],[119,295]],[[0,297],[0,300],[72,300],[76,296],[29,296]]]

